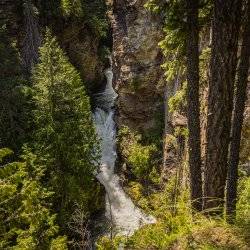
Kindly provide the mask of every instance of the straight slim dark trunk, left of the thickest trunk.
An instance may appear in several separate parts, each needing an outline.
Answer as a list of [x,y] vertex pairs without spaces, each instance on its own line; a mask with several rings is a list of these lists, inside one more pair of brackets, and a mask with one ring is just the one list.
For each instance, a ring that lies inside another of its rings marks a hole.
[[199,101],[199,0],[187,0],[187,114],[191,200],[194,210],[202,209],[201,138]]

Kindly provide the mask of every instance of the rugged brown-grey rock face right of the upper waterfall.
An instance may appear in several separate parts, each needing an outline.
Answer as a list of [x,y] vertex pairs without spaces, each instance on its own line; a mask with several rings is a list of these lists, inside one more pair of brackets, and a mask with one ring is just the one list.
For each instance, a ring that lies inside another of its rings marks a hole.
[[146,0],[107,1],[113,29],[114,83],[118,92],[118,126],[146,131],[163,106],[162,24],[144,8]]

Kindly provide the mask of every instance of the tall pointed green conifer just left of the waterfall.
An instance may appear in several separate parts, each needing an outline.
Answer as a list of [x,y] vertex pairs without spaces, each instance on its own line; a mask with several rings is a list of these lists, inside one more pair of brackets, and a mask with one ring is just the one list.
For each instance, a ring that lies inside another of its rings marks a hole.
[[56,194],[55,209],[65,227],[72,204],[84,204],[87,210],[93,198],[98,145],[81,78],[48,30],[33,84],[34,146],[38,155],[47,158],[49,185]]

